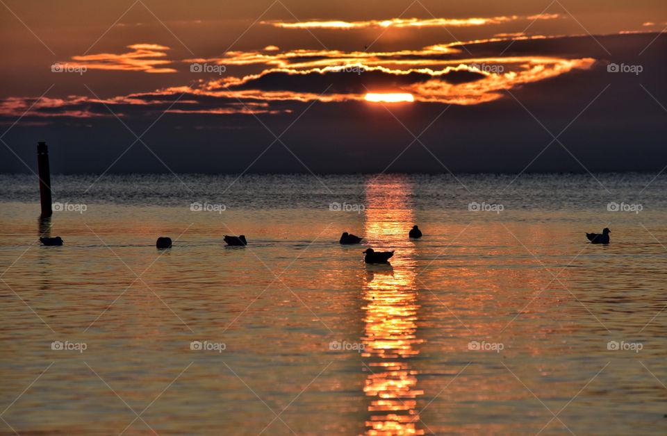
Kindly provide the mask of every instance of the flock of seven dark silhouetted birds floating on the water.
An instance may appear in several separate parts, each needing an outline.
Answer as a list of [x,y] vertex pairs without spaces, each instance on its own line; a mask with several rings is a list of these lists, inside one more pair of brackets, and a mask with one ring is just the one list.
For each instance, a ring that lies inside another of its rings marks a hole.
[[[602,229],[602,233],[586,233],[586,237],[591,244],[609,244],[609,233],[611,230],[609,228]],[[408,233],[408,237],[411,239],[419,239],[422,237],[422,231],[419,230],[418,226],[413,226]],[[340,244],[351,245],[359,244],[363,240],[362,237],[352,235],[350,233],[344,232],[340,236]],[[60,236],[56,237],[40,237],[40,242],[46,246],[61,246],[63,245],[63,238]],[[245,235],[239,236],[224,236],[224,242],[229,246],[246,246],[248,244],[245,239]],[[172,247],[172,238],[170,237],[158,237],[157,242],[155,243],[156,248],[158,249],[170,249]],[[369,248],[363,251],[364,262],[375,264],[375,263],[388,263],[389,259],[394,255],[393,251],[374,251]]]

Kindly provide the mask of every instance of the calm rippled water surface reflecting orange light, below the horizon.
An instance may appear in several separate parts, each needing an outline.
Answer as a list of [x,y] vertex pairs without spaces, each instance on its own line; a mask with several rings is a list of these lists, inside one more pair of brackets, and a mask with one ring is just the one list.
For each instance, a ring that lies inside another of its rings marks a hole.
[[664,435],[667,182],[596,177],[0,176],[0,433]]

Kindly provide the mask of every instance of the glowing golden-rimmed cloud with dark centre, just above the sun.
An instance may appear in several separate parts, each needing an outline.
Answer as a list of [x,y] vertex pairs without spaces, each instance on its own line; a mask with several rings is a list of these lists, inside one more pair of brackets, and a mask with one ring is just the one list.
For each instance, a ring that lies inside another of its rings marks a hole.
[[[465,63],[464,63],[465,62]],[[502,91],[593,67],[595,59],[552,57],[474,58],[443,69],[389,69],[362,64],[269,69],[243,78],[211,81],[199,90],[223,97],[308,101],[361,101],[367,92],[411,94],[414,101],[470,106],[502,97]],[[327,86],[331,92],[319,96]]]

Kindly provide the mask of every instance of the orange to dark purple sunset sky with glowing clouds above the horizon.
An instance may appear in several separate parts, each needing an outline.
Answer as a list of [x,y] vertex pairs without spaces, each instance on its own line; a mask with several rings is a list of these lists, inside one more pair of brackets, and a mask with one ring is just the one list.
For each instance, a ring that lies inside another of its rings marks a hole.
[[659,171],[667,3],[0,2],[0,171]]

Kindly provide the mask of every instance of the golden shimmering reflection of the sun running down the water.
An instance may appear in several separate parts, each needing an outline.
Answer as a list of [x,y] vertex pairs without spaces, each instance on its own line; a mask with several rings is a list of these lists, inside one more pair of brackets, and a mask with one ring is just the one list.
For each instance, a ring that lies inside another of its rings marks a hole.
[[[411,187],[402,178],[383,178],[366,185],[364,235],[375,249],[395,249],[391,265],[367,265],[365,305],[364,392],[370,397],[367,435],[423,435],[417,428],[417,319],[415,243],[407,238],[414,224]],[[384,245],[386,244],[386,245]],[[390,244],[390,245],[389,245]]]

